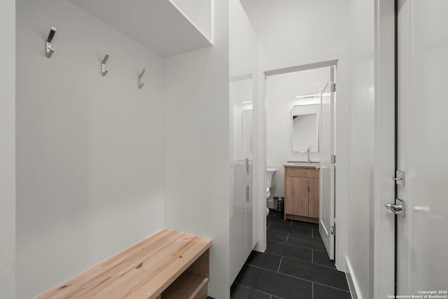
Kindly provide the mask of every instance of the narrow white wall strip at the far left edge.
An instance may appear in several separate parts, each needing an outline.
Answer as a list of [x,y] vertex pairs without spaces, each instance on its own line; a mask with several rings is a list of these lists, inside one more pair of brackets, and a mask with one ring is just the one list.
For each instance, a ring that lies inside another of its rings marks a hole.
[[15,1],[0,2],[0,294],[15,298]]

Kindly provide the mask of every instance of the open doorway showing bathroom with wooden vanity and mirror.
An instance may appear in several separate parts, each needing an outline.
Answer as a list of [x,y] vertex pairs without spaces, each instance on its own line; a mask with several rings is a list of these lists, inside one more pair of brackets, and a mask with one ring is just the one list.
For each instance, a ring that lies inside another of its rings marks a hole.
[[300,240],[288,235],[286,244],[319,239],[330,263],[335,260],[336,69],[337,60],[265,72],[267,242],[280,229],[302,234]]

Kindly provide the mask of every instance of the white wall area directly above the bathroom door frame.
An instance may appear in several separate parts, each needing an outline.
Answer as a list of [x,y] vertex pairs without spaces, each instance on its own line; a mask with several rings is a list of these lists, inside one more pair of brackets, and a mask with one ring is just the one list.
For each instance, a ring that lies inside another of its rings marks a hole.
[[241,0],[260,39],[260,62],[346,48],[349,0]]

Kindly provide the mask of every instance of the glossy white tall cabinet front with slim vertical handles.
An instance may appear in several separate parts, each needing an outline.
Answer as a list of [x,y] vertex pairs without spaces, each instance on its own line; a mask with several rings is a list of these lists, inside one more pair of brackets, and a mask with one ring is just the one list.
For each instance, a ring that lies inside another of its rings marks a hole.
[[[230,281],[253,249],[253,79],[230,82]],[[248,104],[250,103],[250,104]]]

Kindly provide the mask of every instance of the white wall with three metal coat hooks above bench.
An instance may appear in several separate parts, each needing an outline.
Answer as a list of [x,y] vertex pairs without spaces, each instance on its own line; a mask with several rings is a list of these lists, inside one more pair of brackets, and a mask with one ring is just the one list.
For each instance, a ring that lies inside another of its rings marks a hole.
[[17,298],[31,298],[163,228],[165,70],[65,0],[17,1],[16,53]]

